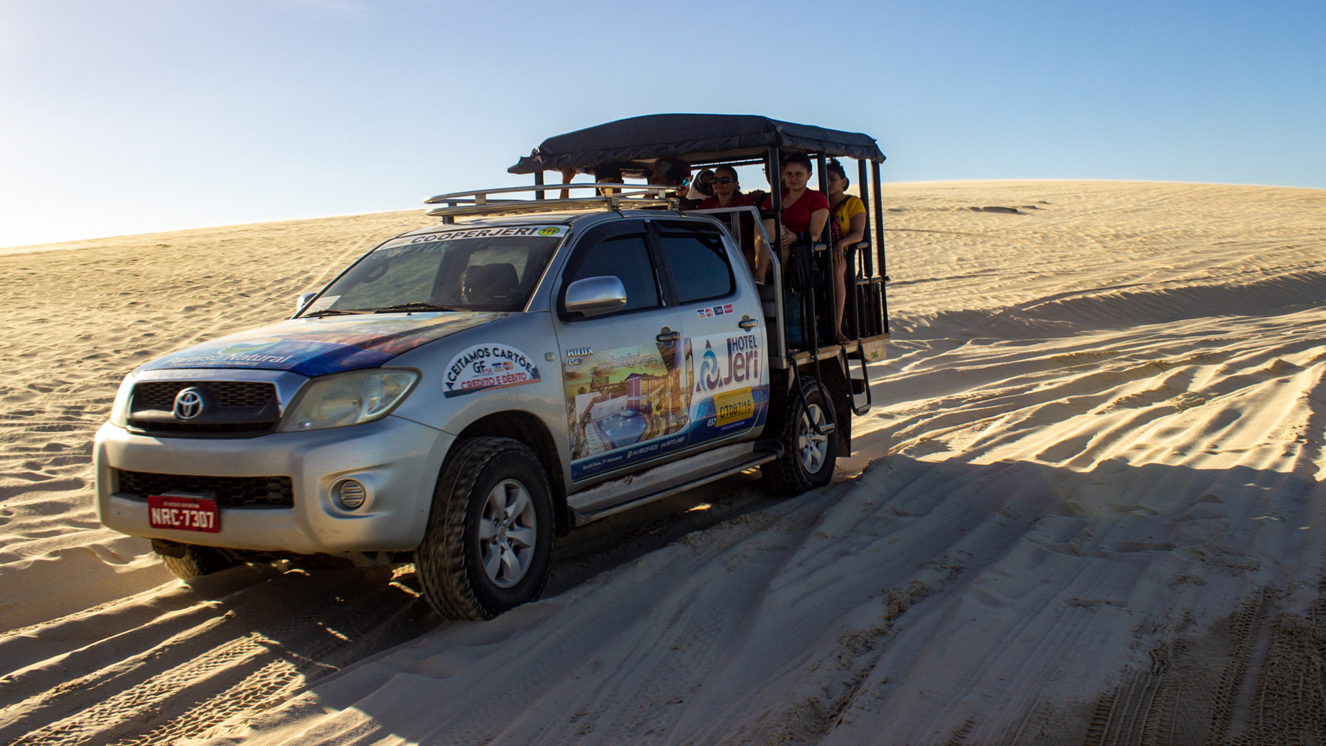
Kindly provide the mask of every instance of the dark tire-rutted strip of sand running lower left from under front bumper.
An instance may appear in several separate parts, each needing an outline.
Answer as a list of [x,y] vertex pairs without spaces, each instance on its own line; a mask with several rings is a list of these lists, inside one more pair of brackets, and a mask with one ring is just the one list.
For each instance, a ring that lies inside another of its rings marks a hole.
[[[40,660],[0,678],[13,701],[0,709],[0,742],[172,743],[274,706],[438,625],[407,585],[408,569],[389,581],[386,569],[263,579],[236,568],[195,588],[106,604],[91,611],[91,625],[84,612],[7,633],[0,654],[36,646]],[[119,628],[106,629],[107,620]]]

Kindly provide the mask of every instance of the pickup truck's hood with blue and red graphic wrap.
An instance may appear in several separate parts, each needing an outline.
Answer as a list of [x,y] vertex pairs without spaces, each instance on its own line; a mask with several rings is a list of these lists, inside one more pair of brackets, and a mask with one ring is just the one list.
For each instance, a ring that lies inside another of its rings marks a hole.
[[507,313],[456,312],[290,319],[172,352],[134,372],[247,368],[326,376],[378,368],[419,345],[504,316]]

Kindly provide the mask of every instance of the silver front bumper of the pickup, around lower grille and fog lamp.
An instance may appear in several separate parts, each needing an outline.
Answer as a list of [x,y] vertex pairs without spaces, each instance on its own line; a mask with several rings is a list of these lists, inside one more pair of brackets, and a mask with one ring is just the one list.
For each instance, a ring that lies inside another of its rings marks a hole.
[[[97,431],[97,518],[133,536],[273,552],[408,551],[423,539],[442,461],[455,435],[389,415],[377,422],[257,438],[156,438],[111,423]],[[216,534],[152,528],[147,502],[117,492],[118,470],[206,477],[288,475],[293,507],[220,507]],[[367,500],[345,510],[332,486],[353,477]]]

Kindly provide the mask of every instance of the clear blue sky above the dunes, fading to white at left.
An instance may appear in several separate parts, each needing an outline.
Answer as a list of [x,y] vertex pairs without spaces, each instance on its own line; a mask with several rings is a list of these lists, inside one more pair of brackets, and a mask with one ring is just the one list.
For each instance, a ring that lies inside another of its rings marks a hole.
[[648,113],[887,181],[1326,188],[1326,3],[4,0],[0,247],[422,208]]

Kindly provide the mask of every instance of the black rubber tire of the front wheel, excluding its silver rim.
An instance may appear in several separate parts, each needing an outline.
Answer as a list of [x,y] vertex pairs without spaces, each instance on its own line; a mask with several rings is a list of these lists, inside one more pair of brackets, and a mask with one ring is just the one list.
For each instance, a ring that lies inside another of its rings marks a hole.
[[[533,506],[534,546],[524,575],[503,588],[484,569],[479,534],[489,492],[509,481],[525,488]],[[511,438],[459,441],[438,475],[428,527],[415,550],[428,604],[447,619],[492,619],[538,597],[552,555],[552,487],[534,451]]]

